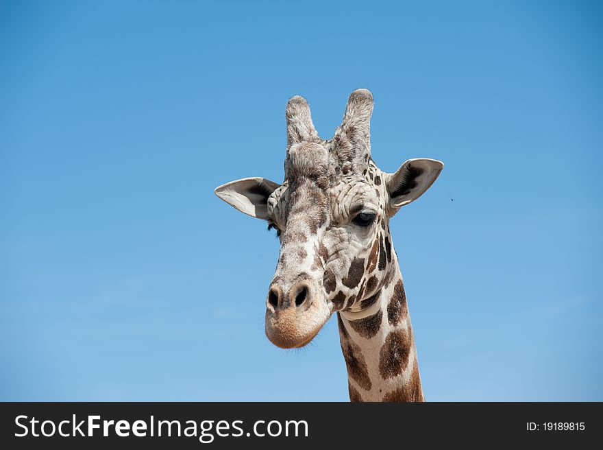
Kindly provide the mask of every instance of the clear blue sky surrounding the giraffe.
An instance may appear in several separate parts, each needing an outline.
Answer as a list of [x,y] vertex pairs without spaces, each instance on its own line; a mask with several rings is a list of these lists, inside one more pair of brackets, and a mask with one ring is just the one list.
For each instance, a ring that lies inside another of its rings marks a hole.
[[[603,8],[0,5],[0,400],[347,400],[336,322],[264,336],[278,255],[213,189],[281,181],[284,107],[445,162],[391,222],[426,398],[602,401]],[[454,199],[454,201],[452,201]]]

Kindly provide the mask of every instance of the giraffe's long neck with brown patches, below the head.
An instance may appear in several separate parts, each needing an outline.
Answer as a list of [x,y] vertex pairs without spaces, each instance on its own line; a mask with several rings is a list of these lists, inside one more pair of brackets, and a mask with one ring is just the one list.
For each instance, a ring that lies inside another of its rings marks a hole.
[[377,294],[359,311],[337,313],[351,401],[424,401],[402,273],[392,253],[391,272]]

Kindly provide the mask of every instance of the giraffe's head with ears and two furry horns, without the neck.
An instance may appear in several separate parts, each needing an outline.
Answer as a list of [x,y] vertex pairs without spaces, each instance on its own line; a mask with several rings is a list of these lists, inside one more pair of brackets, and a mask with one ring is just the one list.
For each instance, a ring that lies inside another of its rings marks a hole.
[[378,169],[371,160],[372,111],[370,91],[354,91],[341,126],[324,141],[306,100],[291,98],[282,185],[243,178],[215,191],[277,230],[281,246],[266,299],[266,334],[282,348],[308,344],[335,311],[375,303],[395,264],[389,218],[443,169],[433,159],[411,159],[393,174]]

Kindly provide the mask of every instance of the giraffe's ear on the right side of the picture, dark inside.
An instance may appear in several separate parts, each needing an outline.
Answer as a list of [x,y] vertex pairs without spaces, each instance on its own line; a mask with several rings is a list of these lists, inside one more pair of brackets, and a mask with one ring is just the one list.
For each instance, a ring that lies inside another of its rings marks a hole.
[[389,194],[389,217],[402,206],[421,197],[433,185],[443,168],[444,163],[436,159],[416,158],[402,164],[395,174],[386,174],[384,180]]

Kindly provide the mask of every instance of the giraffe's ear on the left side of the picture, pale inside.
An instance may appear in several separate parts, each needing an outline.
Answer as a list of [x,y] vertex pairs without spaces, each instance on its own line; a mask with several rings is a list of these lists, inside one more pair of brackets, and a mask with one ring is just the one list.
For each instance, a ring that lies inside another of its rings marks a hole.
[[267,220],[268,198],[278,187],[278,183],[266,178],[242,178],[218,186],[214,193],[241,213]]

